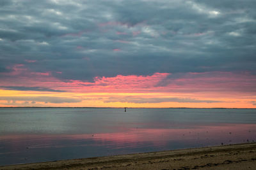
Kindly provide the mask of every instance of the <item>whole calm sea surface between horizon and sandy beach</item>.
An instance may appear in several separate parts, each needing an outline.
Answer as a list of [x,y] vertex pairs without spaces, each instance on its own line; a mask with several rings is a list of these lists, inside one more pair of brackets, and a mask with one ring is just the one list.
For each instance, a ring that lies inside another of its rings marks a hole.
[[256,141],[256,110],[0,108],[0,166]]

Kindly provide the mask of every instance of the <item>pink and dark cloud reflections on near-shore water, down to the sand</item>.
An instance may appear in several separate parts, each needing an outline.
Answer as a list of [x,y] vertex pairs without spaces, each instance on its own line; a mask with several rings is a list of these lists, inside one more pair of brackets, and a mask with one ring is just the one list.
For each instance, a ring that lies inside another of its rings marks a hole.
[[153,152],[221,143],[228,145],[247,140],[256,141],[255,124],[189,125],[187,128],[163,129],[132,127],[122,132],[95,134],[13,134],[1,136],[0,164]]

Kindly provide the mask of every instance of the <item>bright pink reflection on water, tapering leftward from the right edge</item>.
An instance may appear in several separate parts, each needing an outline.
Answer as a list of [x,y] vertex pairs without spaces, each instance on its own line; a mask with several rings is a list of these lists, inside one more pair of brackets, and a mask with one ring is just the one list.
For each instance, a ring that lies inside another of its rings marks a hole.
[[129,129],[125,132],[100,133],[100,134],[76,134],[70,136],[73,139],[92,138],[102,143],[115,143],[116,146],[124,146],[129,143],[151,142],[154,146],[164,146],[170,141],[205,141],[211,145],[216,143],[243,143],[255,140],[255,124],[223,124],[223,125],[198,125],[186,129]]

